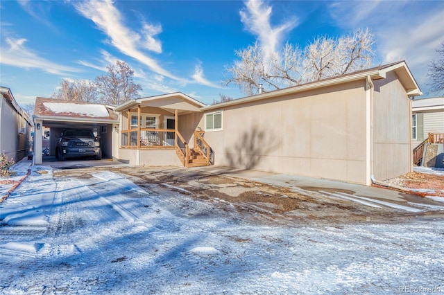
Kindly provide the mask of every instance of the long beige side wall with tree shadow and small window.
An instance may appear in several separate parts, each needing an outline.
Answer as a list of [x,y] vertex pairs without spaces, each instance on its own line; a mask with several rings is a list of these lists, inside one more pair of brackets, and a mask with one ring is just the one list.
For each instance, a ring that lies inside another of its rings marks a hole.
[[365,184],[364,87],[360,80],[225,107],[223,131],[205,140],[216,165]]

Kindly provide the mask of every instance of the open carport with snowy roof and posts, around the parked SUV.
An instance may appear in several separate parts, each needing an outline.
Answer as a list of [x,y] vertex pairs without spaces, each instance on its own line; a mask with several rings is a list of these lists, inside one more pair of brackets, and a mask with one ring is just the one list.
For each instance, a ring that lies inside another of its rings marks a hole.
[[[49,154],[55,156],[58,138],[66,128],[92,129],[100,139],[102,156],[113,158],[117,154],[114,146],[119,145],[114,143],[119,138],[119,118],[110,106],[37,97],[33,119],[35,165],[43,163],[43,139],[49,138]],[[44,129],[48,128],[49,136],[45,136]]]

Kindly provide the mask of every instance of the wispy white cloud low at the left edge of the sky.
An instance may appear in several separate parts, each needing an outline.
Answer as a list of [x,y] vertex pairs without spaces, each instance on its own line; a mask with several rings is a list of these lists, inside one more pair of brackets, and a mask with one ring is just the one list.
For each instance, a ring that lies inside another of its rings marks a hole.
[[[2,46],[0,48],[0,64],[8,64],[23,69],[40,69],[46,73],[57,75],[79,72],[78,69],[62,66],[61,64],[56,64],[50,60],[39,57],[33,53],[33,51],[26,48],[24,46],[25,43],[26,39],[24,38],[14,39],[7,37],[6,44],[8,44],[8,47]],[[4,44],[4,42],[2,42],[2,44]]]

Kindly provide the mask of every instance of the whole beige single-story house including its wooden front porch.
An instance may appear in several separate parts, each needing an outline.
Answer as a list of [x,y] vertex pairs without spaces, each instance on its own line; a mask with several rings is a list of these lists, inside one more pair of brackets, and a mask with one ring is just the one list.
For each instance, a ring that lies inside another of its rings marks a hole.
[[130,100],[112,157],[135,165],[216,164],[370,185],[410,172],[405,62],[204,105],[183,93]]

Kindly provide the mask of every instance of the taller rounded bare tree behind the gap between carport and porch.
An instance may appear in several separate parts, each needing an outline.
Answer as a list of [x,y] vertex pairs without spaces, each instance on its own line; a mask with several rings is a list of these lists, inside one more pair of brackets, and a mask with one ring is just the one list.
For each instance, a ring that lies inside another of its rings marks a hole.
[[134,71],[126,62],[117,61],[116,66],[110,64],[108,74],[99,75],[95,80],[100,101],[108,105],[120,105],[132,98],[138,98],[142,87],[133,82],[133,75]]

